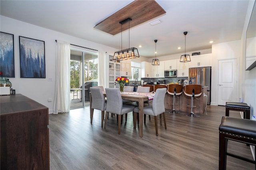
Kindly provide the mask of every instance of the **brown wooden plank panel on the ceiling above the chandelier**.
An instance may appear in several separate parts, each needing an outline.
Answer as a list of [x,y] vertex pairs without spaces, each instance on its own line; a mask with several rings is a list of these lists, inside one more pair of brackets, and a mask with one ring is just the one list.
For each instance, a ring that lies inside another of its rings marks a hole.
[[[119,22],[126,18],[132,19],[130,21],[130,28],[132,28],[165,13],[165,10],[155,0],[135,0],[96,24],[94,28],[114,36],[121,32],[121,24]],[[122,24],[122,31],[128,29],[129,22]]]

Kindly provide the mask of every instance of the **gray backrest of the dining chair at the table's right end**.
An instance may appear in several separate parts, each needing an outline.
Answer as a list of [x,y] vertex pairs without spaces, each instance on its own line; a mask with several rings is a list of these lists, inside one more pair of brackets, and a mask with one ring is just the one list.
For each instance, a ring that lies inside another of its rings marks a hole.
[[166,91],[167,91],[166,88],[156,89],[156,94],[152,102],[152,109],[154,112],[154,116],[160,115],[165,112],[164,97],[165,97]]

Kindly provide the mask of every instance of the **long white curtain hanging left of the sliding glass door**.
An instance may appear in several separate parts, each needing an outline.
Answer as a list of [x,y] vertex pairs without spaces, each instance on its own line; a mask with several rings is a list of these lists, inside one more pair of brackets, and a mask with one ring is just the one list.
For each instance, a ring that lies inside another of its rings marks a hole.
[[70,110],[70,43],[57,42],[54,114]]

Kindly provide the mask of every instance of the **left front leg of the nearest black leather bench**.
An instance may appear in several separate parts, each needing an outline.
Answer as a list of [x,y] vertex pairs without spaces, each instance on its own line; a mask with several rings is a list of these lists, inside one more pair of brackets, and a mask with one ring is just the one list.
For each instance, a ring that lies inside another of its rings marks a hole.
[[227,164],[227,142],[225,134],[219,134],[219,170],[226,170]]

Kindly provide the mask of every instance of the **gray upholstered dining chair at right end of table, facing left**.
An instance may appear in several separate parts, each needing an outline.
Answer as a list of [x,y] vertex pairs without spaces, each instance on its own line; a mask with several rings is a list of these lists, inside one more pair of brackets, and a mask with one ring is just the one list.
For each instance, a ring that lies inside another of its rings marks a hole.
[[[144,114],[154,116],[156,136],[158,136],[158,124],[157,124],[158,115],[163,115],[164,127],[166,129],[165,109],[164,109],[165,93],[166,93],[166,88],[157,89],[153,99],[152,106],[146,106],[143,109]],[[139,112],[139,108],[138,107],[134,108],[134,121],[137,121],[138,112]]]

